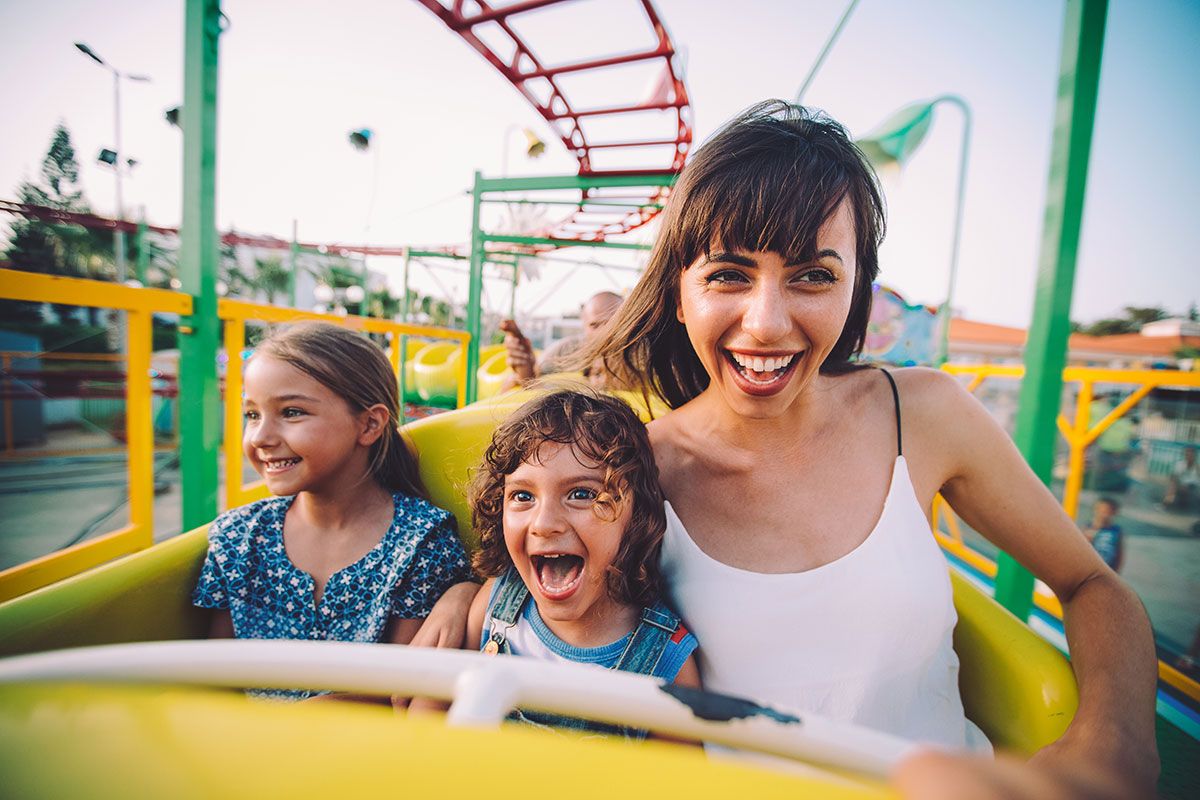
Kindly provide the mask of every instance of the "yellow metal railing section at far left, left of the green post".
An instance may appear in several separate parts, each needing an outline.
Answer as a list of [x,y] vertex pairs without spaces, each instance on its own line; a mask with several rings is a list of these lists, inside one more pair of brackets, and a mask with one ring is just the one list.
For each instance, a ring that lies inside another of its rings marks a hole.
[[164,289],[134,289],[102,281],[0,270],[0,297],[126,313],[130,524],[49,555],[0,571],[0,601],[61,581],[154,542],[154,421],[151,420],[151,318],[156,312],[191,314],[192,299]]

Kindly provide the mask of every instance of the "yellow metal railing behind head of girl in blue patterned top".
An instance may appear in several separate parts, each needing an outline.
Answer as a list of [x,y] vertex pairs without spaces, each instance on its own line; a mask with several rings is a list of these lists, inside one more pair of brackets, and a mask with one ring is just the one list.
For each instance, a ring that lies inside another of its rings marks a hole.
[[344,325],[367,333],[383,333],[389,337],[388,357],[392,371],[400,379],[403,369],[406,336],[454,339],[458,342],[458,401],[461,408],[467,399],[467,343],[470,335],[449,327],[428,325],[409,325],[372,317],[341,317],[336,314],[318,314],[316,312],[281,308],[244,302],[241,300],[221,300],[217,303],[217,317],[224,320],[224,349],[228,356],[226,363],[224,386],[224,468],[226,468],[226,507],[234,509],[265,498],[266,486],[262,481],[242,483],[242,415],[241,415],[241,371],[242,351],[246,348],[246,323],[294,323],[302,319],[319,319],[335,325]]

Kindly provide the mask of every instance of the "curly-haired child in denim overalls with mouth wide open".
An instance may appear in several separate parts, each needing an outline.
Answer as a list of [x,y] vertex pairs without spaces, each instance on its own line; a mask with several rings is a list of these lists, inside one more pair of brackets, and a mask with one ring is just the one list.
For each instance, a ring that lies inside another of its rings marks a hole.
[[472,604],[469,643],[700,685],[696,638],[661,601],[662,494],[646,427],[625,403],[592,391],[526,403],[496,431],[470,504],[480,534],[475,567],[491,579]]

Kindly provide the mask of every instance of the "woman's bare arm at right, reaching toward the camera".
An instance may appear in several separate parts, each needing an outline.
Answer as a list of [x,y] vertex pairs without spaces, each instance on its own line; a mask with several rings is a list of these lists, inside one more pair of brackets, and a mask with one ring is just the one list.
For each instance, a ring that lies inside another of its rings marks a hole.
[[1090,764],[1129,796],[1152,795],[1157,663],[1141,602],[976,398],[944,373],[905,372],[914,373],[900,390],[905,440],[912,432],[913,462],[934,470],[920,471],[934,479],[926,491],[941,489],[967,524],[1044,581],[1063,606],[1079,711],[1033,763],[1063,772]]

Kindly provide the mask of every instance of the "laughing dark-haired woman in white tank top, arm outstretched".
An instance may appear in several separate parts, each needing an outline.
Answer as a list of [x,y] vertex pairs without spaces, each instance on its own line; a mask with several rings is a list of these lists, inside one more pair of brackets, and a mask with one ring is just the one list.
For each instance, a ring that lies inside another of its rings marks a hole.
[[[845,130],[756,106],[696,151],[642,279],[581,357],[643,375],[673,409],[649,425],[662,572],[704,643],[704,685],[986,747],[962,712],[929,531],[941,492],[1054,589],[1080,686],[1039,770],[967,772],[997,793],[1152,793],[1154,650],[1136,596],[954,378],[856,363],[882,236],[875,175]],[[961,770],[934,764],[922,783],[928,766],[910,768],[925,796]]]

